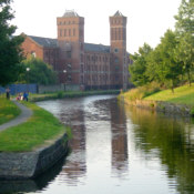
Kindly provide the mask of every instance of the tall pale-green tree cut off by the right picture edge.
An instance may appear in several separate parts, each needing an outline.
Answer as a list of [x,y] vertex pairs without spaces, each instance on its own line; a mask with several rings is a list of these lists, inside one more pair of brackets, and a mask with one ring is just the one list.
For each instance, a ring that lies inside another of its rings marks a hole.
[[182,63],[191,85],[194,71],[194,0],[182,0],[176,19],[176,32],[180,44],[176,50],[177,62]]

